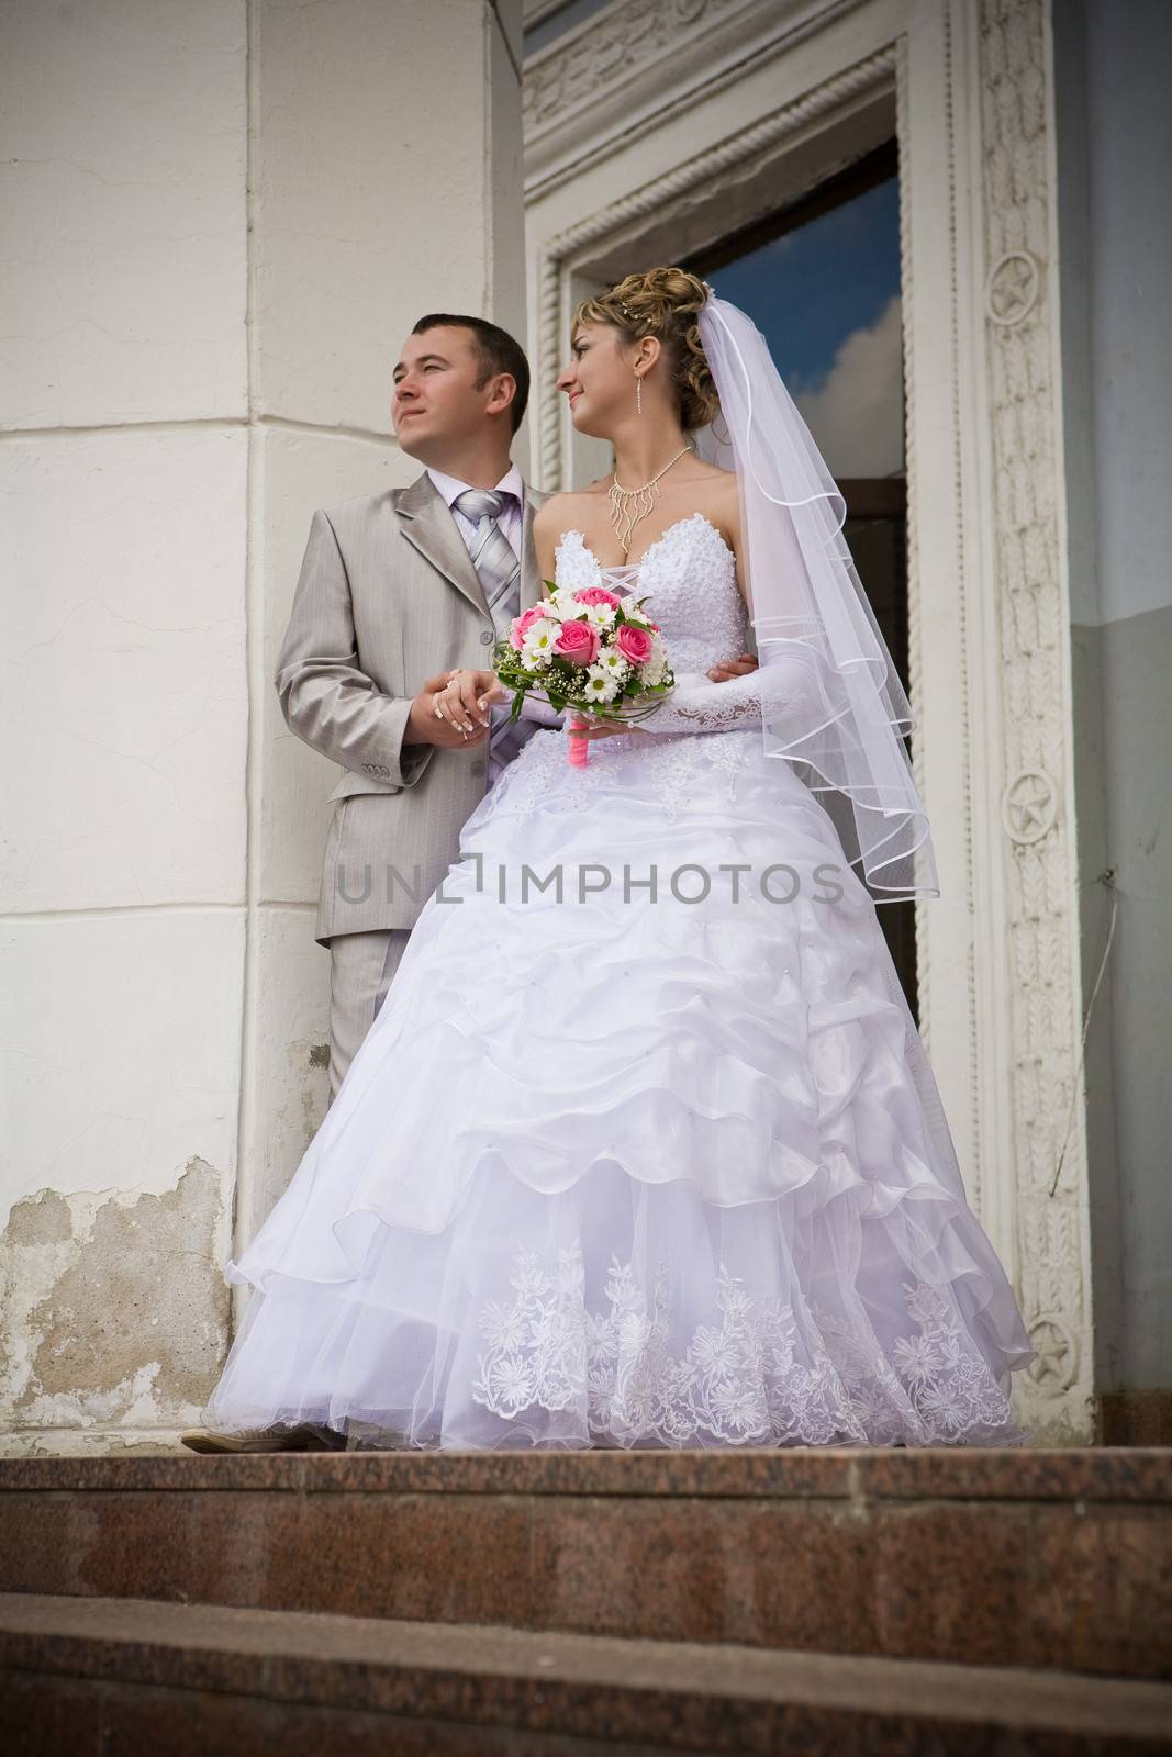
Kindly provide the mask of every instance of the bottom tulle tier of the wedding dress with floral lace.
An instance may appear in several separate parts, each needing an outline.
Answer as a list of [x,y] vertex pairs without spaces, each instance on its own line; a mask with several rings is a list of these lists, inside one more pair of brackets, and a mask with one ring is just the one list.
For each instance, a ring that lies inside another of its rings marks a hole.
[[930,1189],[887,1212],[863,1186],[715,1209],[615,1165],[555,1197],[483,1170],[443,1233],[371,1211],[336,1232],[351,1277],[265,1277],[211,1427],[478,1450],[1023,1441],[995,1265]]

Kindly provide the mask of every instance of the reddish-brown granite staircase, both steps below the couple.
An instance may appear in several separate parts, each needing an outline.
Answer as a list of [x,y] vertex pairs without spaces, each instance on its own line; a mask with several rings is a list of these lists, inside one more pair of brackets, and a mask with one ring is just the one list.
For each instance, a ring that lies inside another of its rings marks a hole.
[[1172,1453],[0,1460],[0,1750],[1172,1752]]

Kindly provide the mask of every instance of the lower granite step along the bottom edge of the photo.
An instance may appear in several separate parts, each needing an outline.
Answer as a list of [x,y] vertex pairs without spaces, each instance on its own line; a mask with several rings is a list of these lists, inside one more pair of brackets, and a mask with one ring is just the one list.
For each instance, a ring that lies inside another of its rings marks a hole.
[[1172,1685],[4,1594],[0,1746],[25,1757],[1140,1757],[1172,1750]]

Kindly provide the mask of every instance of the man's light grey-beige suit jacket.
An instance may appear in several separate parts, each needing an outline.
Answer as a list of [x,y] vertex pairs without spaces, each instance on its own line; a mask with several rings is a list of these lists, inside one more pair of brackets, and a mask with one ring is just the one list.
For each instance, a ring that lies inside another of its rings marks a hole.
[[[520,608],[541,596],[525,488]],[[290,731],[346,770],[334,787],[316,938],[411,928],[483,799],[485,743],[404,745],[434,671],[485,669],[496,631],[464,539],[427,474],[318,510],[276,669]]]

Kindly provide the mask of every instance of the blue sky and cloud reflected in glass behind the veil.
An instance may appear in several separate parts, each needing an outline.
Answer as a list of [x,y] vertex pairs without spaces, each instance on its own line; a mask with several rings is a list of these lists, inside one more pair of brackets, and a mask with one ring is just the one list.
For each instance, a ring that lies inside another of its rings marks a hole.
[[903,469],[896,177],[705,278],[763,332],[835,474]]

